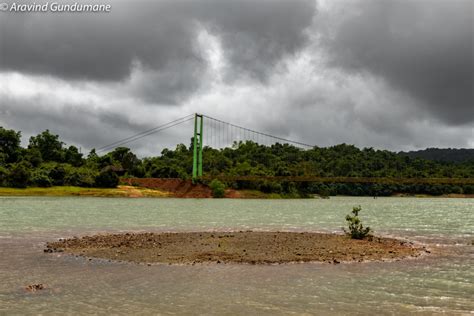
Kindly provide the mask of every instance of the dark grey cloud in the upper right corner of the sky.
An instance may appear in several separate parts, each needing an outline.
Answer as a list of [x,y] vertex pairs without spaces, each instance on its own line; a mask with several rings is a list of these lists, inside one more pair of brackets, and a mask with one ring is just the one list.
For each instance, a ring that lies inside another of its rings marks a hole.
[[333,66],[381,76],[447,124],[474,122],[472,0],[340,4],[347,14],[322,42]]

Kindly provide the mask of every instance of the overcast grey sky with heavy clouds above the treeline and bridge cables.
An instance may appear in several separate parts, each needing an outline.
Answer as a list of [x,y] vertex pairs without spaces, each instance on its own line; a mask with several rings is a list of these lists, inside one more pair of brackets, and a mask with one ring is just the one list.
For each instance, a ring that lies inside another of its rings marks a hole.
[[0,126],[24,144],[86,151],[201,112],[318,146],[474,148],[472,0],[81,3],[112,10],[0,12]]

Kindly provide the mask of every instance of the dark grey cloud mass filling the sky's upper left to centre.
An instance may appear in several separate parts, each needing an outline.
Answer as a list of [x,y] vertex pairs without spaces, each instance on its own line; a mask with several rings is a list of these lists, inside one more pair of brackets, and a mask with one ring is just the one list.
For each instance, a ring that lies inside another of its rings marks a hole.
[[137,92],[155,103],[179,102],[205,80],[203,28],[220,40],[229,77],[263,80],[304,45],[315,13],[310,0],[110,3],[108,14],[3,14],[0,69],[118,81],[140,65],[148,77]]

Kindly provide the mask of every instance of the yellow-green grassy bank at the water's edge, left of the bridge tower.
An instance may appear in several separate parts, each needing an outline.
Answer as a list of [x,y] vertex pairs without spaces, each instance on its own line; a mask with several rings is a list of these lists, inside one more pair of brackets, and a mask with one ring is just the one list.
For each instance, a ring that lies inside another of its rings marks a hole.
[[28,187],[25,189],[0,188],[0,196],[167,197],[169,193],[125,185],[113,189],[57,186],[50,188]]

